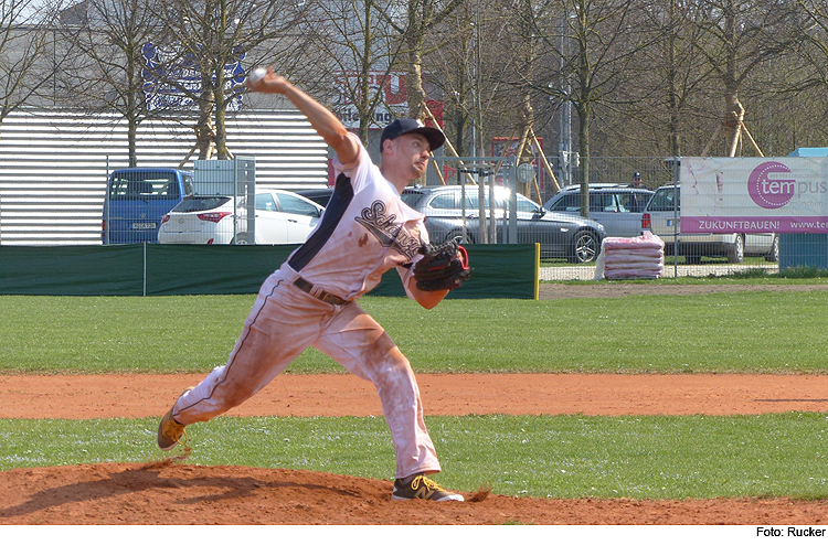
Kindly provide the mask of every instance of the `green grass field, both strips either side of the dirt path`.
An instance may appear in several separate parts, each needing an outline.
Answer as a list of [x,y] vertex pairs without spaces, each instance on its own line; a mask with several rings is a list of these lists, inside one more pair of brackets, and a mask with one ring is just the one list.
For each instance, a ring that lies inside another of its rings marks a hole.
[[[669,287],[669,286],[666,286]],[[253,296],[0,298],[0,374],[204,372]],[[367,298],[417,372],[819,373],[828,292],[447,300]],[[310,350],[294,373],[341,372]],[[551,498],[828,496],[824,414],[428,417],[460,490]],[[148,461],[156,419],[0,420],[0,469]],[[382,418],[226,418],[188,428],[188,462],[388,479]]]

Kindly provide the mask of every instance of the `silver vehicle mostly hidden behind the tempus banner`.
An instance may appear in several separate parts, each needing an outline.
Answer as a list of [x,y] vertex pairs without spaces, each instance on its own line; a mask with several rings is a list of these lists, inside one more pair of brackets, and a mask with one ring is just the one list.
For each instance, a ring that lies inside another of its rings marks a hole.
[[[745,255],[778,260],[779,238],[776,234],[682,234],[681,188],[669,184],[658,188],[641,213],[641,229],[649,229],[665,242],[665,253],[683,255],[687,264],[697,265],[701,257],[726,257],[728,263],[742,263]],[[676,229],[679,229],[678,240]]]

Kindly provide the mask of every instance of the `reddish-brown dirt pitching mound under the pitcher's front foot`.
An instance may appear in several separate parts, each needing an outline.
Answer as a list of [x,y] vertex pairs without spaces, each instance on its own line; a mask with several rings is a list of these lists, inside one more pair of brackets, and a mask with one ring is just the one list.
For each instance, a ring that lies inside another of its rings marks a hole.
[[[391,501],[391,481],[329,473],[99,463],[0,473],[2,524],[594,525],[825,524],[828,502],[772,500]],[[464,493],[468,500],[475,492]]]

